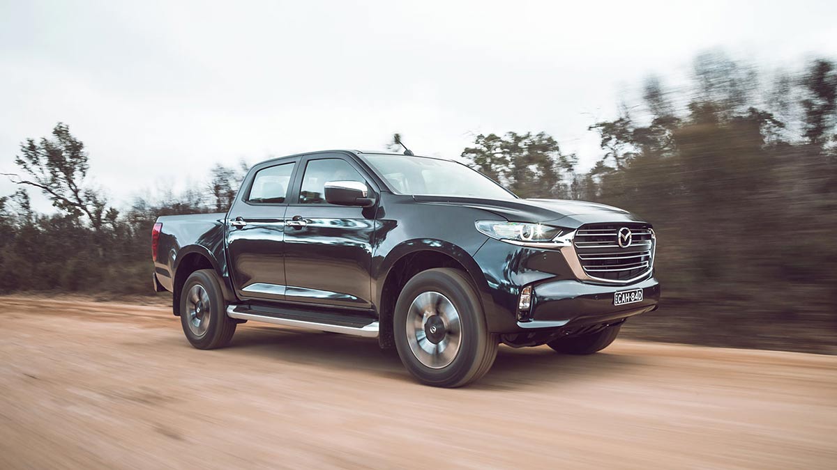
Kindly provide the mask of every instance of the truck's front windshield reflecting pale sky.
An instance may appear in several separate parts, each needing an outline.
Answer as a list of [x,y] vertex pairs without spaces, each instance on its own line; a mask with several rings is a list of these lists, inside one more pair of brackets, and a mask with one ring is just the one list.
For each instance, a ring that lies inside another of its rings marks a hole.
[[479,171],[455,161],[422,156],[370,155],[363,158],[398,194],[427,196],[516,197]]

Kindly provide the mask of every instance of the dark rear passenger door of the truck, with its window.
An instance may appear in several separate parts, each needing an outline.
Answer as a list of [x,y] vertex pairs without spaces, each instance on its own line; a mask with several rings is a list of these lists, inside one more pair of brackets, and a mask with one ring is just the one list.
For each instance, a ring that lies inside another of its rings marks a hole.
[[298,162],[257,166],[230,209],[230,278],[241,299],[285,299],[285,211]]

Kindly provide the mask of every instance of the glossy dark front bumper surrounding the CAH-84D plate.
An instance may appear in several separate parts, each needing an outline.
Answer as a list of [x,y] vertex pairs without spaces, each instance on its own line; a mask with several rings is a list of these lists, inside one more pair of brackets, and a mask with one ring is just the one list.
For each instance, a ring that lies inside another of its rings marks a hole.
[[[615,293],[633,289],[643,290],[642,301],[614,305]],[[612,286],[560,280],[537,284],[533,293],[530,314],[517,322],[524,330],[617,322],[648,312],[660,301],[660,283],[653,277],[639,283]]]

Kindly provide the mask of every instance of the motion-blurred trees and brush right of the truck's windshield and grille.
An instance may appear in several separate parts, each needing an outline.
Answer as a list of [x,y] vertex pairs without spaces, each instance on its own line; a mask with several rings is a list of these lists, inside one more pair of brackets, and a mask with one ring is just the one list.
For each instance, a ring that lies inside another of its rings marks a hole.
[[648,79],[640,103],[590,126],[603,157],[586,174],[541,170],[562,167],[542,135],[479,135],[462,155],[521,196],[654,223],[663,302],[629,335],[837,353],[837,71],[765,79],[722,54],[698,57],[686,89]]

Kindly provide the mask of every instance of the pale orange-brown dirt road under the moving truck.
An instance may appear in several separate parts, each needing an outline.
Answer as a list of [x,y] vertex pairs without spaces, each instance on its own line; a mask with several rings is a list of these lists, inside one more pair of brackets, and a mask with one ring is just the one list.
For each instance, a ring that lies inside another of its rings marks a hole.
[[440,390],[374,340],[250,323],[200,351],[163,307],[0,312],[0,468],[837,467],[837,356],[501,346]]

